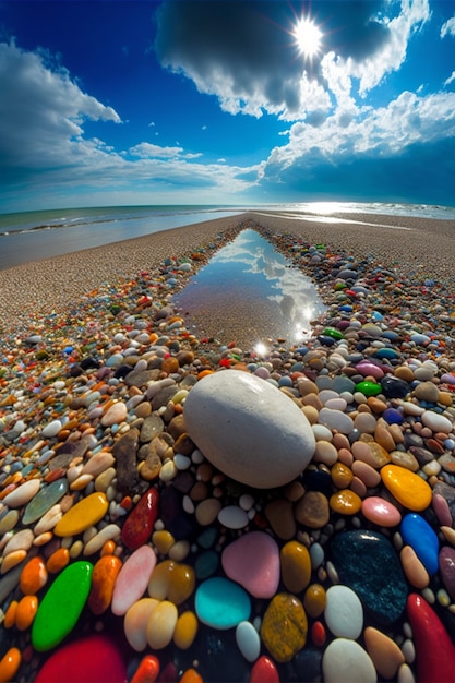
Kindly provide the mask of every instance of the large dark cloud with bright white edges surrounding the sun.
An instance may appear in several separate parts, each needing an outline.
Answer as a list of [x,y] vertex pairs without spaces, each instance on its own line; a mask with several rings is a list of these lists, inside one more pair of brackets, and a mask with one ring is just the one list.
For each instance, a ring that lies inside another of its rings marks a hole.
[[215,95],[225,111],[302,120],[328,112],[334,98],[351,110],[352,80],[364,95],[399,69],[412,34],[430,17],[428,0],[303,3],[302,15],[311,12],[322,33],[311,60],[295,45],[300,15],[275,0],[170,0],[159,8],[155,49],[164,67]]

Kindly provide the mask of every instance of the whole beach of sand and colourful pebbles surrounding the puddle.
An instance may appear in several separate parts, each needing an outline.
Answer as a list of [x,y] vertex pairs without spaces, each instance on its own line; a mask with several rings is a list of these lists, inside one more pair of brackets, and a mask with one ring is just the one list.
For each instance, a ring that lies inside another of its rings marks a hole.
[[[172,308],[244,228],[324,300],[304,343]],[[0,271],[0,680],[455,680],[454,230],[258,211]]]

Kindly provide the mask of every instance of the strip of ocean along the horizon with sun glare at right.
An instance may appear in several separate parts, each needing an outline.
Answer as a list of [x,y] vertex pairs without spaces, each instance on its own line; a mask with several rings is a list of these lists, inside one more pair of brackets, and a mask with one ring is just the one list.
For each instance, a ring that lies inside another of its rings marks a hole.
[[307,202],[243,207],[110,206],[0,214],[0,269],[247,211],[286,212],[296,218],[318,216],[320,220],[343,213],[455,220],[455,207],[378,202]]

